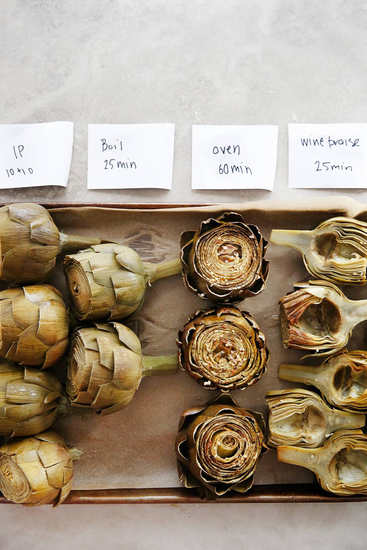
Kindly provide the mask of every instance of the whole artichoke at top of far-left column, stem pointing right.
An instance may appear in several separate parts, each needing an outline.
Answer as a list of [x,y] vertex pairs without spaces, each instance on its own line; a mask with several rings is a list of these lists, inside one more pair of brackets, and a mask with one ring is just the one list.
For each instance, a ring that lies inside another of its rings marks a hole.
[[99,239],[59,233],[46,208],[31,202],[0,208],[0,279],[40,283],[50,277],[56,256],[98,244]]

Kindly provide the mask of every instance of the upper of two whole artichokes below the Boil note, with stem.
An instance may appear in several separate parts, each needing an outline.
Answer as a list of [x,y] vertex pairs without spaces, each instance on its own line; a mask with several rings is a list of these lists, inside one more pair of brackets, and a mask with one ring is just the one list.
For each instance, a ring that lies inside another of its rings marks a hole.
[[143,305],[147,284],[180,271],[179,259],[143,262],[138,252],[118,244],[91,246],[64,261],[72,308],[80,320],[129,317]]

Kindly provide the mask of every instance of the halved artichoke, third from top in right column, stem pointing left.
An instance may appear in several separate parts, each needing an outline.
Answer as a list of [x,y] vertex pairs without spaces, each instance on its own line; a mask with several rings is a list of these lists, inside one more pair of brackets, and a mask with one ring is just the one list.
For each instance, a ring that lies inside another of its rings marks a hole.
[[281,365],[279,377],[315,386],[339,409],[367,413],[367,351],[342,349],[317,367]]

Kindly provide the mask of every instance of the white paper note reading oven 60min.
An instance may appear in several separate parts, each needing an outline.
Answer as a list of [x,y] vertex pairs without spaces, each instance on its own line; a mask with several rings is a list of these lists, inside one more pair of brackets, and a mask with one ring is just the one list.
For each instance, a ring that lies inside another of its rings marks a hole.
[[277,126],[194,124],[191,189],[272,191],[277,142]]

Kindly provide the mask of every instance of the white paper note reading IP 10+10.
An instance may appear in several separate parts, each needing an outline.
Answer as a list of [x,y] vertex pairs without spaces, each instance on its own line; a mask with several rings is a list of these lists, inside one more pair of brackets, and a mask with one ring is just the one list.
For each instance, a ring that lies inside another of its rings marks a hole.
[[0,189],[67,186],[74,123],[0,124]]

